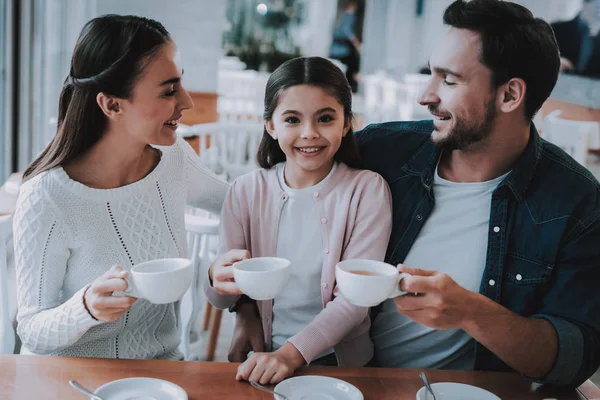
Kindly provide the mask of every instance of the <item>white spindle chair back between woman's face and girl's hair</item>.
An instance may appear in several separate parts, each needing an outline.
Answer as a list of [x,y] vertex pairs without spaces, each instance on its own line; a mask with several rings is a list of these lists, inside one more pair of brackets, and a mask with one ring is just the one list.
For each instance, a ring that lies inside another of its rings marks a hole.
[[219,167],[229,180],[258,168],[256,154],[264,131],[262,123],[214,122],[194,125],[193,129],[199,136],[210,135],[211,149],[218,149]]

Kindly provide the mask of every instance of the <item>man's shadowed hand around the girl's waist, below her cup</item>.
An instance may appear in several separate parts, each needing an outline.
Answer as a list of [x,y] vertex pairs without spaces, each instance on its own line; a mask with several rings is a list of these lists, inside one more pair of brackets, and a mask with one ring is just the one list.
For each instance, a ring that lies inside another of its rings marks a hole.
[[[243,301],[243,300],[240,300]],[[250,351],[264,351],[263,329],[256,302],[245,301],[238,306],[235,329],[227,359],[229,362],[244,362]]]

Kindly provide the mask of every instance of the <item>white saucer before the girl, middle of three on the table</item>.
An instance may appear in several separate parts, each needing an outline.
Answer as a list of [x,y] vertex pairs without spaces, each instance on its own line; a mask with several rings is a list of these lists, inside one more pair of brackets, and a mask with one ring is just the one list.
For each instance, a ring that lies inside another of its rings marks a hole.
[[[339,379],[326,376],[296,376],[275,386],[289,400],[364,400],[360,390]],[[281,397],[275,396],[277,400]]]

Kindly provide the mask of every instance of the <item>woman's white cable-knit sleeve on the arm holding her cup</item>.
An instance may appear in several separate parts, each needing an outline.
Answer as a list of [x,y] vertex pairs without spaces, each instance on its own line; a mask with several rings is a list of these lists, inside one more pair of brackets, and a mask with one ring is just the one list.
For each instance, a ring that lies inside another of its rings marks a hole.
[[87,286],[70,299],[61,297],[70,256],[68,232],[50,201],[40,188],[24,185],[13,224],[17,333],[23,345],[36,354],[69,347],[91,327],[102,323],[85,307]]

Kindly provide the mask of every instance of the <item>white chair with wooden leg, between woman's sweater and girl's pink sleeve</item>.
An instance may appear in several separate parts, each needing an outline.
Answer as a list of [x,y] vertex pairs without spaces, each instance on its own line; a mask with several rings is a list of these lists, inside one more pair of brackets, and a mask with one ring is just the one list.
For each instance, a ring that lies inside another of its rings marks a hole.
[[[219,235],[219,220],[209,216],[186,214],[185,229],[188,233],[189,257],[194,265],[194,277],[190,290],[181,302],[181,346],[185,360],[199,359],[199,355],[192,350],[192,330],[201,311],[202,285],[212,259],[210,239]],[[213,361],[221,326],[222,310],[215,310],[206,302],[204,310],[203,331],[210,329],[209,341],[206,350],[206,361]],[[212,318],[211,318],[212,317]]]

